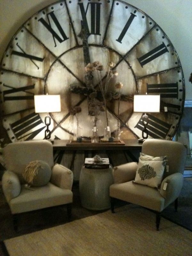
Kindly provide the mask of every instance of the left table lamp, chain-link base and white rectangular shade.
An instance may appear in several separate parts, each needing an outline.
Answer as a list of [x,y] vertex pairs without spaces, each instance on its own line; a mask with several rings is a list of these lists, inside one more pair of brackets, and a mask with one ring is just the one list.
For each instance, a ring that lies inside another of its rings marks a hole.
[[45,139],[51,138],[51,131],[49,125],[51,124],[51,117],[49,113],[61,111],[61,100],[60,95],[34,95],[35,101],[35,113],[47,113],[45,116],[44,123],[46,125]]

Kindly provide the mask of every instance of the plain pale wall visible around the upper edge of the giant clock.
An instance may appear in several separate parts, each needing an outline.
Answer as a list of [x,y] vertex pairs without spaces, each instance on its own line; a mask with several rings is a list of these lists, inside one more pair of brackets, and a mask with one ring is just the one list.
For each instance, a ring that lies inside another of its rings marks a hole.
[[[77,0],[73,0],[77,1]],[[18,28],[54,0],[0,0],[0,59]],[[184,71],[186,100],[192,100],[192,0],[124,0],[146,12],[164,30],[175,47]]]

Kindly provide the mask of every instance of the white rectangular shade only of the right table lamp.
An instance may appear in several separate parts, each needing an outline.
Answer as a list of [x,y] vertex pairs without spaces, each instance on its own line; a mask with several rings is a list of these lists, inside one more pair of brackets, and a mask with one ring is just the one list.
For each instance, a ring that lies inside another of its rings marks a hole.
[[159,113],[160,111],[160,94],[136,94],[134,95],[134,112],[151,112]]

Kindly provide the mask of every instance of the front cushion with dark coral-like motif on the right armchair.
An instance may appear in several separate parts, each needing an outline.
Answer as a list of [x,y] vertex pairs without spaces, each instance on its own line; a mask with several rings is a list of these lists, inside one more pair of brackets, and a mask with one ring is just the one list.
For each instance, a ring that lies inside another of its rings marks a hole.
[[158,188],[165,169],[164,161],[142,161],[139,159],[134,182]]

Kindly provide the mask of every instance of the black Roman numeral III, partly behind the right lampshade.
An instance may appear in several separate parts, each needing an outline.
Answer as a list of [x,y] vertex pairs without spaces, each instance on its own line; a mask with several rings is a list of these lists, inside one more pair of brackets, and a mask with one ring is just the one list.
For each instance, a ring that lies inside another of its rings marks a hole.
[[161,94],[161,98],[178,99],[178,83],[174,84],[147,84],[147,93]]

